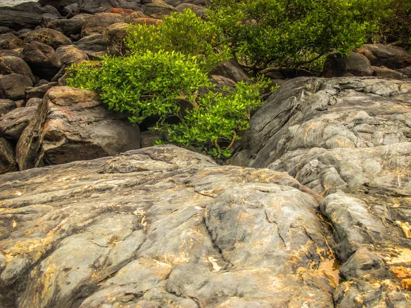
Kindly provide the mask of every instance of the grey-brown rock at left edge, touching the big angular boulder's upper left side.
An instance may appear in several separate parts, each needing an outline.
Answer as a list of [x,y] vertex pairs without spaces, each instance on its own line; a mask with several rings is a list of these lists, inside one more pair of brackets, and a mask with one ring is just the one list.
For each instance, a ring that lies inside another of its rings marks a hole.
[[1,135],[14,142],[18,141],[21,133],[34,117],[37,107],[16,108],[0,118]]

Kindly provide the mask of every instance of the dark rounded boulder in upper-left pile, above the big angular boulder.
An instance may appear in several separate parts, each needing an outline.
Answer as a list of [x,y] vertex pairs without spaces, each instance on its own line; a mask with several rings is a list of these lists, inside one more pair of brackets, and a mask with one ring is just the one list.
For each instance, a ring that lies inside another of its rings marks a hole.
[[52,47],[36,41],[26,45],[23,60],[32,68],[34,75],[45,79],[51,79],[62,66]]

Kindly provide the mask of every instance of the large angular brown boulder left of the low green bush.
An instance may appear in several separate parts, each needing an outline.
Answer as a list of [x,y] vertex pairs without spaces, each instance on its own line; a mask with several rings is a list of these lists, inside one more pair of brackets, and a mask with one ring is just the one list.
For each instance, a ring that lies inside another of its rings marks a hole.
[[16,147],[21,170],[116,155],[140,147],[140,131],[127,114],[105,109],[99,95],[51,88]]

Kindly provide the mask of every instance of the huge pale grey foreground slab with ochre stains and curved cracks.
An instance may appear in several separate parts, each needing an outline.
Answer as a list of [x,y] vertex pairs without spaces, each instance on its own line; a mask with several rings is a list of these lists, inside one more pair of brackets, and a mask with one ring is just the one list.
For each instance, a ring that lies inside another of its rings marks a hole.
[[2,307],[334,307],[328,225],[285,173],[155,146],[3,175],[0,208]]

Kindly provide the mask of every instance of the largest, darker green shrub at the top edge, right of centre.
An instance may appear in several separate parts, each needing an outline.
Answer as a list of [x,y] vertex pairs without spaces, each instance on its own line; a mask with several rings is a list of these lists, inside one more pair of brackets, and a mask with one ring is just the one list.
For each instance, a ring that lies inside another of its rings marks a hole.
[[349,53],[377,30],[390,0],[214,0],[208,19],[253,70],[301,68]]

